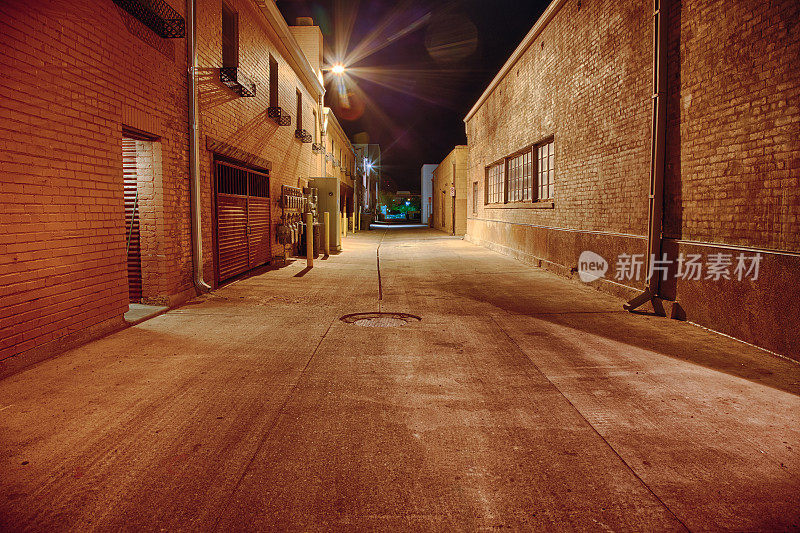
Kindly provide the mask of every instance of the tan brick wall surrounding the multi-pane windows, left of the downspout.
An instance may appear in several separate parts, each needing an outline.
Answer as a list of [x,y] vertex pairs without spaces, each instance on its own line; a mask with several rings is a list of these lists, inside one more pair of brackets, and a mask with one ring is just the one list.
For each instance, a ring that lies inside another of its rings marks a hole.
[[[478,214],[470,187],[469,217],[646,235],[650,4],[578,5],[561,8],[467,122],[467,181],[479,183]],[[485,206],[486,167],[551,136],[555,208]]]

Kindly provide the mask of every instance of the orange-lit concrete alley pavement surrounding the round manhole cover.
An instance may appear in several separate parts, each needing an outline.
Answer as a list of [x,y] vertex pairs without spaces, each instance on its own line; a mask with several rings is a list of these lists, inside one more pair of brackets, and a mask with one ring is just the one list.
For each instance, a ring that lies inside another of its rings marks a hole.
[[[800,365],[442,233],[344,246],[0,381],[0,529],[800,528]],[[339,320],[379,309],[422,320]]]

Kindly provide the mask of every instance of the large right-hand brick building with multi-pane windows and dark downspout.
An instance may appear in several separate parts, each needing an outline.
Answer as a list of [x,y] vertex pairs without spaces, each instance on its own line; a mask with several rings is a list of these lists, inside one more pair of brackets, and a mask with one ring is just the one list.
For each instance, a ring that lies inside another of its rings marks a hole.
[[654,11],[550,4],[465,118],[467,238],[796,358],[800,4]]

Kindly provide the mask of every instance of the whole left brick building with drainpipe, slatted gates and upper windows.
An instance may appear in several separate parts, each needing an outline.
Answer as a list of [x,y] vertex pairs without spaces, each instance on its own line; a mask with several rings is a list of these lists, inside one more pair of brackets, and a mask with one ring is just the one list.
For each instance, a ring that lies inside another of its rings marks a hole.
[[0,374],[270,261],[281,187],[324,169],[319,28],[197,0],[193,33],[186,2],[140,4],[0,7]]

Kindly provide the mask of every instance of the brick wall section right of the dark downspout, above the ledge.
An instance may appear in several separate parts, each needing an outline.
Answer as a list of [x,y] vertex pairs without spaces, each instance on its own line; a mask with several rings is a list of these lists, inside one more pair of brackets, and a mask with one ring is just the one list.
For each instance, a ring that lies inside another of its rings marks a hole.
[[674,2],[665,233],[800,250],[800,2]]

